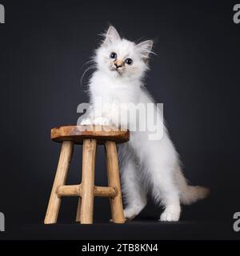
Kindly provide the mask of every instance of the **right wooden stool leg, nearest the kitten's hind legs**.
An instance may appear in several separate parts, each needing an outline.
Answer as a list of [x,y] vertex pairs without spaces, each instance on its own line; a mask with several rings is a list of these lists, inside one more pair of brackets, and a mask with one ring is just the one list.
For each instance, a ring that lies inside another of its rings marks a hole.
[[115,198],[110,198],[112,220],[115,223],[124,223],[125,218],[122,206],[122,192],[119,176],[118,153],[116,143],[107,141],[105,143],[105,149],[108,185],[114,186],[118,191],[118,194]]

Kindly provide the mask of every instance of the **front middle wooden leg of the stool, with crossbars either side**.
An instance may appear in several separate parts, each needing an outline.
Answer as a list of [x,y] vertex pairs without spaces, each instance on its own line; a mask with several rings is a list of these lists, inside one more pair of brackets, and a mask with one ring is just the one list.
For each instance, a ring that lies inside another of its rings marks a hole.
[[97,140],[87,138],[82,146],[81,224],[92,224],[94,218],[94,168]]

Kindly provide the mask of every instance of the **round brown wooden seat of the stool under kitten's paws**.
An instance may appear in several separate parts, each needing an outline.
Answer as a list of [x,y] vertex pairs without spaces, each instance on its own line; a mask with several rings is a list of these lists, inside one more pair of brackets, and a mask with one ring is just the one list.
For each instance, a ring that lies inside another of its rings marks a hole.
[[104,141],[123,143],[129,141],[130,133],[129,130],[113,126],[59,126],[51,129],[51,139],[54,142],[71,141],[82,144],[85,138],[94,138],[98,144]]

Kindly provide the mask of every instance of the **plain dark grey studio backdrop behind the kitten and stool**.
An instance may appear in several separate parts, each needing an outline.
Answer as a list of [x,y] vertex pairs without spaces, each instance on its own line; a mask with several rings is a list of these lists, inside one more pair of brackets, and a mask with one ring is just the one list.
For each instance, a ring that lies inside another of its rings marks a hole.
[[[0,211],[6,215],[6,234],[22,238],[18,226],[34,226],[27,238],[32,234],[38,238],[45,232],[42,222],[60,150],[60,145],[50,141],[50,128],[77,122],[77,106],[87,101],[86,88],[80,84],[82,66],[98,46],[98,34],[111,23],[126,38],[154,38],[157,56],[150,62],[147,88],[156,102],[164,103],[166,122],[186,166],[186,177],[195,185],[210,187],[208,199],[183,207],[180,224],[205,223],[212,230],[210,226],[218,221],[222,224],[217,225],[216,233],[223,238],[234,235],[232,218],[240,210],[240,24],[233,22],[234,2],[1,3],[6,8],[6,24],[0,24]],[[81,158],[81,147],[75,147],[69,184],[80,181]],[[96,183],[106,185],[100,147],[96,166]],[[73,223],[76,207],[77,198],[64,198],[59,222]],[[161,226],[156,222],[160,212],[150,203],[137,219],[143,223],[142,228],[126,224],[122,236],[175,238],[179,226],[173,233],[168,230],[171,226]],[[109,218],[108,200],[97,198],[95,221],[107,222]],[[147,222],[153,229],[144,226]],[[226,233],[222,233],[221,225],[226,225]],[[168,232],[166,237],[160,235],[163,226]],[[75,231],[81,228],[73,227]],[[117,236],[114,228],[111,224],[103,226],[106,233],[102,238]],[[66,229],[70,234],[66,238],[81,237],[74,237],[70,226],[66,225]],[[101,238],[94,229],[84,232],[89,238]],[[194,224],[190,229],[194,232]],[[186,234],[191,238],[187,230],[189,227],[181,226],[177,236]],[[66,234],[64,228],[61,232]],[[50,238],[57,234],[58,229],[48,233]],[[214,235],[204,231],[197,232],[196,237],[216,238]]]

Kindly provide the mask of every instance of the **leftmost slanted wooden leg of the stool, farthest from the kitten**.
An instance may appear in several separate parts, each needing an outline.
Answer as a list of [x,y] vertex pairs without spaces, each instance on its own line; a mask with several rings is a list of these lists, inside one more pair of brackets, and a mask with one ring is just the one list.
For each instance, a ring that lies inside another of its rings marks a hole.
[[58,169],[54,178],[54,186],[50,194],[50,200],[46,210],[45,224],[56,223],[58,219],[61,198],[58,198],[58,186],[65,185],[66,175],[70,166],[74,142],[62,142],[62,150],[58,161]]

